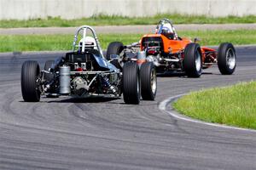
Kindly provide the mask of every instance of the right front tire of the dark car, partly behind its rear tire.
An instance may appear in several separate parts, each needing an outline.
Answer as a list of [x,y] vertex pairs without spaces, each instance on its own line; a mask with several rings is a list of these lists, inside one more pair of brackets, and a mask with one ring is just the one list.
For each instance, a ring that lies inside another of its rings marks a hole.
[[156,71],[152,62],[143,63],[140,69],[142,97],[154,100],[157,90]]

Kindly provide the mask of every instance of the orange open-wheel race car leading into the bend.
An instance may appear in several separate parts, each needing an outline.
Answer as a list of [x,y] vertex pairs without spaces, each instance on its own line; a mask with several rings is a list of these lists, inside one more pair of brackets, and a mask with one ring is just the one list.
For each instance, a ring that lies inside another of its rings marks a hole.
[[218,51],[201,47],[197,39],[191,41],[178,37],[170,20],[160,20],[154,34],[144,35],[139,42],[123,45],[111,42],[108,45],[107,59],[116,59],[117,67],[122,67],[129,60],[137,63],[154,62],[156,71],[184,72],[188,77],[200,77],[202,69],[218,64],[224,75],[232,74],[236,69],[236,50],[229,42],[219,45]]

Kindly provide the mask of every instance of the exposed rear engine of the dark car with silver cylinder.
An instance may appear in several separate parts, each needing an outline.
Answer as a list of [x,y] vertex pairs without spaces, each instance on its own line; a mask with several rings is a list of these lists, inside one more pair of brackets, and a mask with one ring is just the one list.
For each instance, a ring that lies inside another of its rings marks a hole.
[[[96,52],[96,51],[95,51]],[[68,53],[60,68],[60,94],[80,97],[91,94],[119,95],[120,77],[116,72],[102,66],[103,59],[96,53]],[[102,62],[102,63],[101,63]]]

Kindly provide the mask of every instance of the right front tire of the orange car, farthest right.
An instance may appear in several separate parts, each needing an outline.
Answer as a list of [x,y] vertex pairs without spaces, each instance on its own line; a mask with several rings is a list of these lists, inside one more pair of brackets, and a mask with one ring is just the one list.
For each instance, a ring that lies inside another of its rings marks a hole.
[[224,42],[219,45],[217,62],[221,74],[233,74],[236,70],[236,50],[232,43]]

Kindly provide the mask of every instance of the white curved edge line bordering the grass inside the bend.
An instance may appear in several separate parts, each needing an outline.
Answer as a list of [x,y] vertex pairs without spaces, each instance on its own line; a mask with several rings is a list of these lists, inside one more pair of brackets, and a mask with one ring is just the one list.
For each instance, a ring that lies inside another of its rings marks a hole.
[[[160,105],[158,106],[160,111],[166,111],[166,105],[171,105],[172,102],[176,101],[178,98],[182,97],[183,95],[185,95],[185,94],[179,94],[176,96],[172,96],[170,98],[167,98],[167,99],[161,101]],[[227,128],[227,129],[234,129],[234,130],[241,130],[241,131],[256,133],[256,130],[253,130],[253,129],[247,129],[247,128],[241,128],[241,127],[230,127],[230,126],[226,126],[226,125],[222,125],[222,124],[218,124],[218,123],[203,122],[200,120],[196,120],[196,119],[190,118],[189,116],[183,116],[183,115],[177,113],[176,111],[173,111],[173,108],[172,108],[172,111],[166,111],[166,113],[168,113],[170,116],[172,116],[176,119],[180,119],[180,120],[187,121],[187,122],[195,122],[195,123],[200,123],[200,124],[212,126],[212,127],[222,127],[222,128]]]

